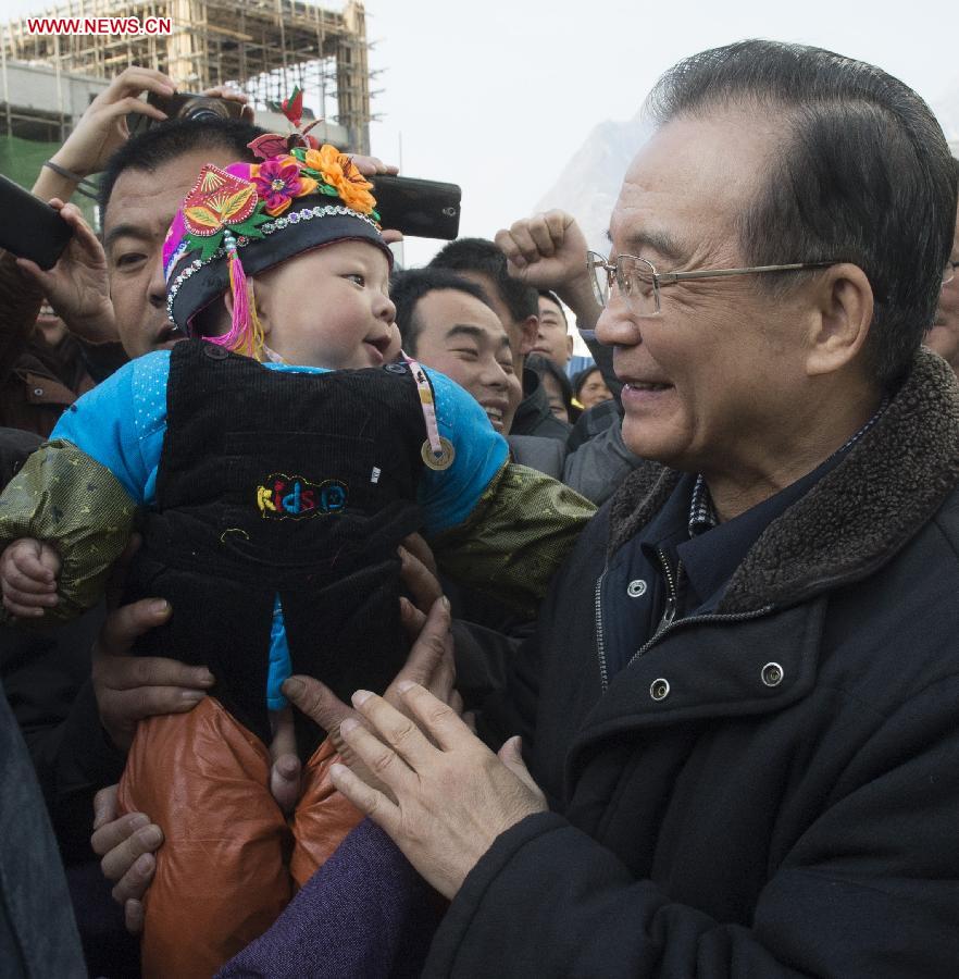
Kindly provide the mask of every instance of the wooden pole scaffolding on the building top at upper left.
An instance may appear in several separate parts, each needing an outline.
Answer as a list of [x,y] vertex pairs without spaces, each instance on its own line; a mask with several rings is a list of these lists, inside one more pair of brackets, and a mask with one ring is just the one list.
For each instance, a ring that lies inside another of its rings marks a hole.
[[[370,152],[370,72],[363,4],[342,12],[306,0],[71,0],[47,17],[169,17],[169,35],[38,35],[27,20],[0,25],[3,63],[110,79],[132,65],[170,75],[184,91],[233,85],[275,110],[298,85],[304,104]],[[8,110],[9,111],[9,110]]]

